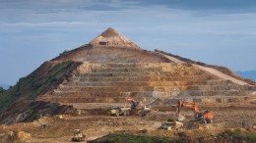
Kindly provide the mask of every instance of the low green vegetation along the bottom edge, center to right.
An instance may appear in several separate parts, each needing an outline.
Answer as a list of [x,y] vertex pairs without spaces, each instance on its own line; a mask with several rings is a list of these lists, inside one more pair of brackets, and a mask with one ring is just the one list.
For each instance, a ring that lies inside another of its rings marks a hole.
[[[191,137],[179,134],[178,137],[173,136],[149,136],[144,134],[145,130],[141,130],[138,134],[133,134],[131,132],[126,131],[118,131],[114,133],[110,133],[100,139],[96,139],[97,142],[102,143],[188,143],[188,142],[200,142],[201,138],[195,138],[191,140]],[[239,128],[234,130],[225,130],[220,133],[217,138],[228,141],[233,138],[236,141],[247,141],[247,140],[256,140],[255,133],[246,134],[244,130],[240,130]],[[214,139],[214,136],[213,136]],[[211,140],[211,139],[210,139]]]

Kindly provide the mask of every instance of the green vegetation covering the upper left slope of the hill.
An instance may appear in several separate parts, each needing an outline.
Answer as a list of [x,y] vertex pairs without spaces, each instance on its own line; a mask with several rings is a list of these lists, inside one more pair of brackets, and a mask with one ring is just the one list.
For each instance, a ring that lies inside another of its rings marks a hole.
[[15,86],[0,94],[0,111],[8,109],[19,99],[32,100],[44,94],[62,82],[65,75],[77,66],[78,63],[70,61],[60,64],[44,63],[28,76],[20,78]]

